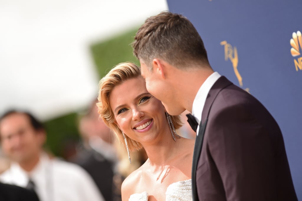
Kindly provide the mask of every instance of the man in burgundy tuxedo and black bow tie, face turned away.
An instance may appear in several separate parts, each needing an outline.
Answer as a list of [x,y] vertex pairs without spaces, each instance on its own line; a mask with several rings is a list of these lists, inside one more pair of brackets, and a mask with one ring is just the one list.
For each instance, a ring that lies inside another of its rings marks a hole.
[[167,11],[148,18],[132,46],[147,90],[170,115],[192,113],[194,200],[297,200],[274,118],[252,95],[214,72],[187,18]]

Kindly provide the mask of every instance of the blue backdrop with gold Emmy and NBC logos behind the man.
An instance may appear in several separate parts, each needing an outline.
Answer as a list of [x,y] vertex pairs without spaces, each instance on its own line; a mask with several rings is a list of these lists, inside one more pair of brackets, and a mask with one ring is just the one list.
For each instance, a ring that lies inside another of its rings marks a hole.
[[211,66],[265,105],[283,133],[302,200],[301,0],[167,0],[204,41]]

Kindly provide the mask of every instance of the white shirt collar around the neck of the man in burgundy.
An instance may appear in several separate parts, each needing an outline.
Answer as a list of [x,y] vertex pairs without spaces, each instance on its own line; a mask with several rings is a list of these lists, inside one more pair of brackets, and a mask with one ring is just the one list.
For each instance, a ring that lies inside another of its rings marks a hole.
[[195,99],[193,101],[193,106],[192,106],[192,115],[195,117],[198,127],[197,127],[197,132],[196,134],[198,135],[199,131],[199,124],[201,122],[201,114],[202,110],[204,109],[204,103],[206,102],[207,95],[209,94],[210,89],[214,85],[214,83],[221,77],[221,75],[217,72],[212,73],[201,85],[199,88]]

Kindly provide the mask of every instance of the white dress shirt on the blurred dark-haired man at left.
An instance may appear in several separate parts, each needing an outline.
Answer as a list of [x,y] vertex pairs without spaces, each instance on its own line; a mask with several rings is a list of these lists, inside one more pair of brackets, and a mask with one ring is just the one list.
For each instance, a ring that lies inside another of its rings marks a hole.
[[0,175],[3,183],[26,187],[29,177],[35,184],[40,201],[104,201],[94,181],[76,164],[50,159],[47,154],[28,173],[17,163]]

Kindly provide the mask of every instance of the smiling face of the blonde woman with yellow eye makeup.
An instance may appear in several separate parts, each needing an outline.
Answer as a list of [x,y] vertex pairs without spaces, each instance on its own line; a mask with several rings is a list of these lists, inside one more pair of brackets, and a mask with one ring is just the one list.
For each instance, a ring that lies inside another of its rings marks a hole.
[[141,76],[114,87],[109,101],[116,124],[135,141],[152,143],[167,128],[164,106],[149,94]]

